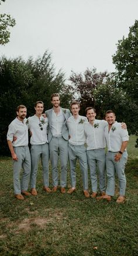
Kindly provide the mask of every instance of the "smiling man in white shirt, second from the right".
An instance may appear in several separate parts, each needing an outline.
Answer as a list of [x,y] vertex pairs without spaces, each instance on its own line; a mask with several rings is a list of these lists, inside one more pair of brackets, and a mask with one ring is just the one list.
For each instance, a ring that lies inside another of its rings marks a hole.
[[87,107],[86,116],[89,120],[85,124],[84,130],[87,137],[87,159],[90,170],[92,194],[91,197],[95,198],[98,191],[98,178],[96,175],[96,165],[98,166],[99,173],[99,189],[101,195],[105,194],[105,136],[104,129],[108,123],[105,120],[95,119],[96,112],[93,107]]

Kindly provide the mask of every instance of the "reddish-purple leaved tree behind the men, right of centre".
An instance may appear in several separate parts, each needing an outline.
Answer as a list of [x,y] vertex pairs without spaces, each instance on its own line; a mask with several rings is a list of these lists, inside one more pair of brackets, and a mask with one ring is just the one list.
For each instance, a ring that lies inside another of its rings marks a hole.
[[80,102],[81,114],[85,115],[85,108],[88,106],[96,107],[94,91],[99,85],[105,84],[108,76],[107,72],[97,73],[95,68],[87,68],[84,73],[72,72],[70,81],[74,88],[74,98]]

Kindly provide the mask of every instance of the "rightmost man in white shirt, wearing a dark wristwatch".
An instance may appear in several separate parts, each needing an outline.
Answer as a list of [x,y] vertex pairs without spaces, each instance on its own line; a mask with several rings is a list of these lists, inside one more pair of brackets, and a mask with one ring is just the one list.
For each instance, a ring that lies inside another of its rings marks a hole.
[[117,203],[124,203],[126,190],[125,164],[127,161],[126,146],[129,140],[127,130],[122,129],[121,124],[116,122],[115,113],[108,110],[105,114],[108,126],[105,127],[105,138],[108,146],[106,154],[106,172],[108,184],[106,194],[102,198],[111,201],[115,194],[115,173],[119,180],[119,197]]

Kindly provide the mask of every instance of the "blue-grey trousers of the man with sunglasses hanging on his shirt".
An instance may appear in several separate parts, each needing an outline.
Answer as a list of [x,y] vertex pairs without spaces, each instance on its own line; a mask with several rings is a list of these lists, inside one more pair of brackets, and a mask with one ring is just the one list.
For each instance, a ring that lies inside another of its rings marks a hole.
[[49,144],[32,145],[30,155],[32,163],[30,174],[31,188],[36,188],[37,169],[40,159],[43,168],[43,184],[44,187],[49,187]]

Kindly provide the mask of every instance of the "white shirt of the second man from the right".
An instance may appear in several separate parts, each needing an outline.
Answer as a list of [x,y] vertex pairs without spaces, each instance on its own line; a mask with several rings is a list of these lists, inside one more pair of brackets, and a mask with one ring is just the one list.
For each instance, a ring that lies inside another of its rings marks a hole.
[[94,124],[87,123],[84,126],[85,135],[87,137],[87,150],[104,149],[105,142],[105,126],[108,122],[105,120],[94,120]]

